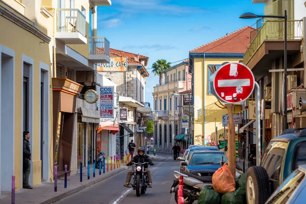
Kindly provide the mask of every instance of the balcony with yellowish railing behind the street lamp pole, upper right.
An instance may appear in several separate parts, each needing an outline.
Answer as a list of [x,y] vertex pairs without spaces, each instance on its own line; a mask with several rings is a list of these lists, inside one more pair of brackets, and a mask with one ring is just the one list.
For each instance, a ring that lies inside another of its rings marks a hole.
[[[270,55],[276,58],[281,57],[279,55],[284,53],[284,20],[266,20],[255,31],[255,33],[250,34],[250,40],[252,41],[243,56],[244,64],[251,69],[265,56]],[[300,50],[300,40],[302,38],[303,21],[288,20],[288,55],[293,55]]]

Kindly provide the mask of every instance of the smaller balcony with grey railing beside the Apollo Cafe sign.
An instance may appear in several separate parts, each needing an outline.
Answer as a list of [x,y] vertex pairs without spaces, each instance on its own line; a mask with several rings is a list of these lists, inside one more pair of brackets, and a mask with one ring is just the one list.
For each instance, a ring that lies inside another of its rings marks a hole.
[[110,63],[110,42],[105,37],[89,37],[89,60],[93,63]]

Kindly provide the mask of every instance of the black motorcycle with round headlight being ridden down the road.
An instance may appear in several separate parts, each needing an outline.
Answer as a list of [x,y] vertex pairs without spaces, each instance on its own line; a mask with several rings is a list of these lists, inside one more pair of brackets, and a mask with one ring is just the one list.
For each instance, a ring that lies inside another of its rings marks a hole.
[[139,197],[140,194],[144,194],[146,192],[146,189],[148,188],[149,181],[146,171],[144,170],[144,164],[150,164],[150,163],[148,162],[145,163],[132,162],[132,163],[134,169],[134,175],[133,175],[134,182],[133,184],[130,184],[129,188],[133,188],[133,190],[136,190],[136,195],[137,197]]

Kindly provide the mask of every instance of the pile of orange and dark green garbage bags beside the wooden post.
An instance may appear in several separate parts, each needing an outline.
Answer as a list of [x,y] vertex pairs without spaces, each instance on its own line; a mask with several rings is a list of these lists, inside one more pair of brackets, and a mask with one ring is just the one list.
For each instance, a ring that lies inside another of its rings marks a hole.
[[213,186],[200,192],[198,204],[246,204],[246,173],[234,179],[226,164],[213,175]]

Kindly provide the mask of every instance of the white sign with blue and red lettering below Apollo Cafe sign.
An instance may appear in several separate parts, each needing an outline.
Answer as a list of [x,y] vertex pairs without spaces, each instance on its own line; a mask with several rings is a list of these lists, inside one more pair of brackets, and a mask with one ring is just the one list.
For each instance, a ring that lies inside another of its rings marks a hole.
[[100,118],[114,117],[114,87],[100,88]]

